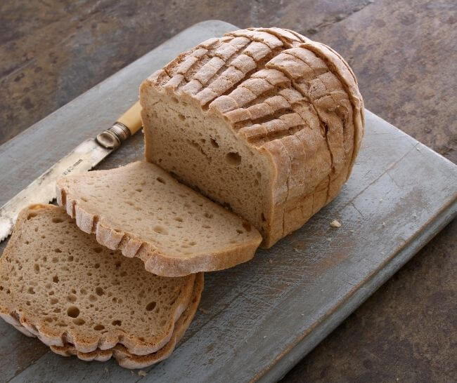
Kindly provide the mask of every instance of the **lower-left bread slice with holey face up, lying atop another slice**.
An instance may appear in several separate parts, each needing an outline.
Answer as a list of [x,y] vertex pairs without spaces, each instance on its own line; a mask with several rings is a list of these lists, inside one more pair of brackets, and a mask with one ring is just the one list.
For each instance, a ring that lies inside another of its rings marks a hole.
[[171,339],[194,281],[150,274],[141,260],[98,245],[62,208],[31,206],[0,259],[0,316],[48,346],[122,344],[146,355]]

